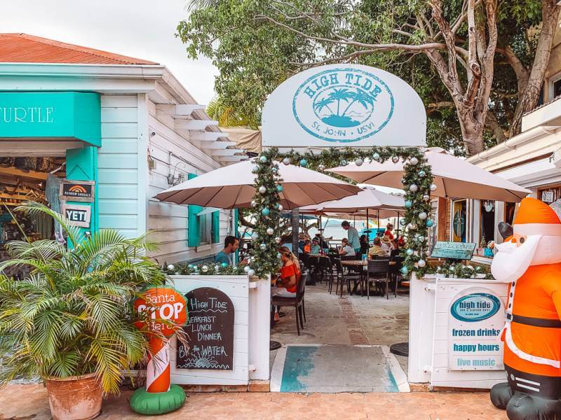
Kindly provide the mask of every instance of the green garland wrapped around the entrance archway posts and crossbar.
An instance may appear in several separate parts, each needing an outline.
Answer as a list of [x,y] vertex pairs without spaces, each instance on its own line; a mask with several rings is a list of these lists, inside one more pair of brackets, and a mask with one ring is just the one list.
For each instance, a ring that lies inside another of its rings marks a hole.
[[[431,203],[430,200],[426,200],[426,196],[431,194],[430,187],[433,182],[433,176],[431,166],[428,165],[423,152],[419,151],[417,148],[374,147],[370,149],[329,148],[324,149],[319,154],[310,152],[299,153],[292,150],[289,153],[282,154],[279,153],[278,149],[271,148],[264,151],[259,156],[256,164],[257,192],[253,197],[255,205],[252,207],[257,209],[257,214],[259,215],[257,227],[255,228],[255,232],[257,232],[259,237],[256,241],[256,246],[254,246],[251,251],[250,267],[255,270],[257,276],[263,277],[274,273],[278,270],[278,266],[280,265],[280,260],[277,255],[278,242],[276,241],[276,235],[278,235],[276,229],[279,225],[280,218],[280,211],[276,210],[279,204],[276,186],[282,180],[278,177],[278,160],[289,158],[293,164],[299,165],[299,162],[304,159],[307,162],[306,167],[318,169],[319,165],[337,167],[344,165],[345,162],[352,162],[358,158],[363,160],[372,159],[375,153],[379,155],[379,162],[384,162],[391,158],[399,158],[404,162],[405,171],[403,185],[405,200],[410,201],[412,205],[410,209],[405,210],[405,215],[402,220],[405,226],[412,224],[412,226],[405,230],[405,240],[407,242],[407,248],[410,248],[413,252],[412,255],[407,255],[407,253],[405,253],[405,248],[403,249],[403,256],[405,257],[403,265],[406,267],[407,272],[417,272],[419,276],[423,276],[427,272],[428,265],[419,267],[418,262],[419,260],[424,260],[424,262],[426,262],[428,256],[428,228],[426,223],[431,218]],[[265,162],[261,161],[262,157],[266,158]],[[412,160],[417,160],[417,163],[414,164]],[[422,174],[423,172],[424,175],[421,176],[419,173]],[[417,186],[417,191],[410,191],[410,186],[412,186],[412,184]],[[264,194],[259,193],[260,186],[266,188]],[[269,215],[263,216],[261,214],[260,211],[264,208],[270,210]],[[421,220],[421,218],[419,218],[419,214],[422,212],[426,213],[428,216],[426,220]],[[268,235],[266,232],[267,228],[273,228],[275,233],[273,235]],[[260,244],[264,244],[264,247],[262,248]],[[404,274],[407,274],[407,272]]]

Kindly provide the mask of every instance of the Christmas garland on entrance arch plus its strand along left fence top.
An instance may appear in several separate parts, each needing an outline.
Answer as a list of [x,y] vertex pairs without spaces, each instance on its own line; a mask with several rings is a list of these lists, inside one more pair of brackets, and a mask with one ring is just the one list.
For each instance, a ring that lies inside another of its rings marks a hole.
[[[364,162],[375,160],[385,162],[404,162],[403,189],[405,191],[405,214],[400,219],[401,230],[405,230],[406,246],[402,248],[405,257],[401,272],[407,276],[416,272],[423,276],[434,272],[428,267],[428,228],[435,225],[431,218],[431,192],[436,190],[433,184],[431,165],[426,156],[418,148],[373,147],[369,149],[328,148],[321,153],[290,151],[280,153],[278,148],[263,151],[255,160],[252,168],[255,174],[255,196],[251,207],[257,215],[253,230],[253,246],[250,250],[248,265],[232,267],[208,263],[203,265],[179,264],[163,267],[168,274],[248,274],[266,278],[278,272],[280,267],[280,195],[283,191],[282,179],[279,176],[279,165],[299,165],[323,172],[330,167],[346,166],[349,162],[363,165]],[[337,174],[330,174],[337,176]],[[338,178],[344,179],[342,176]]]

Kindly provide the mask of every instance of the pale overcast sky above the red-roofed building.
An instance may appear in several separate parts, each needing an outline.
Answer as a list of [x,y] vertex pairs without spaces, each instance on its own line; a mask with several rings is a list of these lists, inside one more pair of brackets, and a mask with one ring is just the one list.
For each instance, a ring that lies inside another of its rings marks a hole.
[[25,32],[163,64],[199,104],[214,94],[217,69],[188,59],[175,37],[187,0],[2,1],[1,32]]

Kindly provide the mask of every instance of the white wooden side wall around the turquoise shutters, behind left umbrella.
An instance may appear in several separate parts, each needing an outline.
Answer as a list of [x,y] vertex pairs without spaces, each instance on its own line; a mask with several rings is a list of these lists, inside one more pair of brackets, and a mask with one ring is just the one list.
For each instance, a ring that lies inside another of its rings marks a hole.
[[[151,239],[159,244],[158,251],[150,255],[160,263],[188,261],[214,255],[222,249],[224,237],[229,232],[230,211],[220,211],[218,244],[212,244],[210,247],[189,247],[187,206],[158,202],[151,197],[170,188],[168,175],[174,174],[174,171],[175,176],[183,174],[187,180],[187,174],[200,175],[219,168],[220,164],[198,148],[196,142],[191,143],[186,132],[176,132],[175,120],[172,117],[156,115],[156,104],[149,100],[147,111],[148,153],[155,163],[153,169],[148,169],[147,176],[147,229],[154,231]],[[170,155],[170,152],[173,155]]]

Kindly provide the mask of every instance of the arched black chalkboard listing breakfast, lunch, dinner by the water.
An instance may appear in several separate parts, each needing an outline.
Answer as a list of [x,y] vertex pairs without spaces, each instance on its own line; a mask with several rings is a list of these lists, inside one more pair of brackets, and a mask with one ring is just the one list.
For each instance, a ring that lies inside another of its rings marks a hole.
[[234,370],[234,304],[222,291],[201,287],[185,295],[189,350],[178,343],[177,368]]

